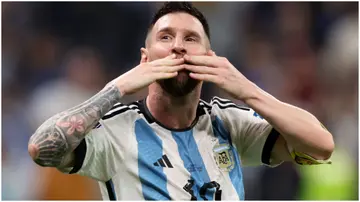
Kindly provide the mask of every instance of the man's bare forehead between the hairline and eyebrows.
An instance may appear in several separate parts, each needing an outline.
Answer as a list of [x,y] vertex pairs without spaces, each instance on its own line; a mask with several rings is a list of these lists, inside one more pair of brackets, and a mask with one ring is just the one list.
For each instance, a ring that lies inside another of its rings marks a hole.
[[194,16],[187,13],[169,13],[159,18],[153,29],[157,33],[165,28],[174,28],[176,30],[191,30],[204,36],[205,31],[201,22]]

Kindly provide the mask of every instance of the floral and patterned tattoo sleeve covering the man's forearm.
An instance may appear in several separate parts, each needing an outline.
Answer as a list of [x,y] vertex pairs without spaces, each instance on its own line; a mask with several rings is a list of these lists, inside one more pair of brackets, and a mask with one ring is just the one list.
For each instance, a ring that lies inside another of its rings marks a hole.
[[30,137],[39,153],[34,161],[41,166],[64,166],[85,135],[117,103],[121,95],[115,85],[100,91],[86,102],[61,112],[43,123]]

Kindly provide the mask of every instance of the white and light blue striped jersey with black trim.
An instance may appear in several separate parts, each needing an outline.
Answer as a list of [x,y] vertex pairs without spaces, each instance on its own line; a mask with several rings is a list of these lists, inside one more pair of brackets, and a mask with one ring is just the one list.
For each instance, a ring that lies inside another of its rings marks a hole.
[[254,110],[200,100],[185,129],[167,128],[146,100],[115,104],[61,169],[99,182],[104,200],[244,200],[241,168],[270,165],[279,133]]

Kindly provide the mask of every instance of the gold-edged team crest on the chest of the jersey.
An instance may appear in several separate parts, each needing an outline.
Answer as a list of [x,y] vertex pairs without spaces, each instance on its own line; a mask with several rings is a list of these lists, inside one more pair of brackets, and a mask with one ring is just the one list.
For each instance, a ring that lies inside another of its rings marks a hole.
[[213,151],[220,170],[229,172],[234,168],[234,155],[229,144],[216,145]]

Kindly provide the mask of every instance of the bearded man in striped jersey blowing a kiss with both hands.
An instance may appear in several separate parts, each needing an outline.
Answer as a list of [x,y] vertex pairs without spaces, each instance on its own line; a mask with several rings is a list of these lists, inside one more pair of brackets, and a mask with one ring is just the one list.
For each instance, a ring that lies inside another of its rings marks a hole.
[[[204,81],[251,108],[200,100]],[[120,103],[146,86],[144,100]],[[313,115],[216,56],[204,16],[179,2],[155,15],[138,66],[47,120],[28,146],[37,164],[94,178],[114,200],[243,200],[241,166],[326,163],[333,148]]]

